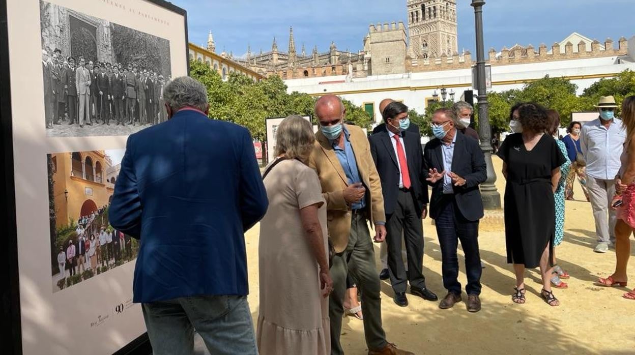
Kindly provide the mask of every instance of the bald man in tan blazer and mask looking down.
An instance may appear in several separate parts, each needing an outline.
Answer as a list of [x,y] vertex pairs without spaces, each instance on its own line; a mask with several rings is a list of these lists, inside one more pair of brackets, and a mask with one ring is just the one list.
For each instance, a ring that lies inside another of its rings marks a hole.
[[344,124],[346,110],[335,95],[319,98],[315,114],[320,130],[309,166],[318,172],[328,235],[335,248],[329,299],[331,354],[344,354],[340,334],[349,271],[361,290],[368,354],[411,354],[387,342],[382,328],[380,281],[368,221],[375,225],[375,242],[382,243],[386,236],[384,198],[368,138],[361,128]]

